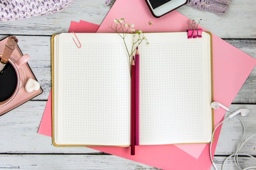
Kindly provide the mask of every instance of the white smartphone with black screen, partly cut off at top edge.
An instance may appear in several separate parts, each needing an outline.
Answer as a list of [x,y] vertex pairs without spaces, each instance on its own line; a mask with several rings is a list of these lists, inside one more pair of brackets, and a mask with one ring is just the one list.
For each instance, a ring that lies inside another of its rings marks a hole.
[[186,4],[187,0],[146,0],[151,13],[156,18]]

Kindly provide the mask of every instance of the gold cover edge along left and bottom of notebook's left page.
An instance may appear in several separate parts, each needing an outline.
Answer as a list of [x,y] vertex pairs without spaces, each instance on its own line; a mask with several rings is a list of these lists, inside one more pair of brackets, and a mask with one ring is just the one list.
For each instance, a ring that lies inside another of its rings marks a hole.
[[51,57],[51,78],[52,78],[52,143],[55,147],[129,147],[130,145],[58,145],[55,142],[54,132],[54,38],[56,35],[53,34],[50,38],[50,57]]

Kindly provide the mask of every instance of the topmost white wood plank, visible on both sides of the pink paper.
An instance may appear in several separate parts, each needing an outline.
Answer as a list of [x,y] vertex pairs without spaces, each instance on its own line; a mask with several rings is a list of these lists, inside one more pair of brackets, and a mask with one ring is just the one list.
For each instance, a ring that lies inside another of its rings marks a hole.
[[[93,1],[93,3],[91,0],[76,0],[60,13],[2,22],[0,31],[2,34],[15,35],[53,35],[68,32],[70,21],[81,19],[100,24],[110,9],[104,3],[105,0]],[[223,16],[200,11],[191,6],[182,6],[178,11],[188,18],[201,20],[201,26],[220,38],[256,38],[255,6],[256,1],[233,0],[228,13]]]

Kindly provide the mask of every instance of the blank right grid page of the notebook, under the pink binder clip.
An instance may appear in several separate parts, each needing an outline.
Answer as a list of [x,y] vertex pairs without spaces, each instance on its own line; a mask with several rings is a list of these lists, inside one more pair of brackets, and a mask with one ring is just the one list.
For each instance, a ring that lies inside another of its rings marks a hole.
[[139,46],[140,145],[210,142],[210,35],[148,33]]

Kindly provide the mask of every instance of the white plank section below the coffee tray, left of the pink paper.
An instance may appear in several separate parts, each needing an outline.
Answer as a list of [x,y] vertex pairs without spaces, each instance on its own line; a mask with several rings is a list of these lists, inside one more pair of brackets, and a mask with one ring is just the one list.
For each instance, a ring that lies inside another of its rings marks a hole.
[[0,153],[100,153],[87,147],[54,147],[37,133],[45,101],[28,101],[0,117]]

